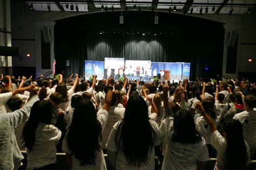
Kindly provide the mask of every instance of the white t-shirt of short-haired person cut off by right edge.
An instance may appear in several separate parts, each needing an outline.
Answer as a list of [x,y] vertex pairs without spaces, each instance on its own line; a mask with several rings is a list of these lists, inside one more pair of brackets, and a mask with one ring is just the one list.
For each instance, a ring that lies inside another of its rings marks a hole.
[[242,111],[234,115],[233,119],[239,121],[244,129],[244,138],[250,149],[256,148],[256,110]]

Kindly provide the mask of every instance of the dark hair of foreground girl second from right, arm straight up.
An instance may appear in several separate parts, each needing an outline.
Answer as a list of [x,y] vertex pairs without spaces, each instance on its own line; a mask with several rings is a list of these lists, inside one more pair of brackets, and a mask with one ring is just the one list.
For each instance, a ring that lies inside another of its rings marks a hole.
[[201,135],[196,130],[193,116],[185,109],[180,109],[174,113],[173,128],[172,141],[196,144],[202,140]]

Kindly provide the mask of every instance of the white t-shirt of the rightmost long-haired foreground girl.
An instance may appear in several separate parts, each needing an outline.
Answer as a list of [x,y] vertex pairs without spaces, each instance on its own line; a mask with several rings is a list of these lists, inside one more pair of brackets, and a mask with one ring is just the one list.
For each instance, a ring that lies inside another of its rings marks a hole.
[[[211,145],[215,148],[215,150],[217,150],[217,162],[215,164],[214,169],[215,170],[220,170],[220,169],[224,169],[224,162],[225,162],[225,152],[226,152],[226,146],[227,146],[227,142],[226,139],[221,136],[221,134],[219,133],[218,130],[215,130],[212,133],[211,136]],[[245,141],[245,146],[247,149],[247,155],[248,155],[248,163],[250,162],[250,148],[248,147],[246,141]]]

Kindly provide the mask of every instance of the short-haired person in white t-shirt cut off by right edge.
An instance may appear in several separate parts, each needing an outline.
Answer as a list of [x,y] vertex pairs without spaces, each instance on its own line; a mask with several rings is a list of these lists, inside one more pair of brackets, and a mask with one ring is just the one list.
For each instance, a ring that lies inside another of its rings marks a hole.
[[233,119],[239,121],[244,126],[244,138],[247,141],[251,157],[256,151],[256,97],[247,95],[244,99],[245,111],[234,115]]

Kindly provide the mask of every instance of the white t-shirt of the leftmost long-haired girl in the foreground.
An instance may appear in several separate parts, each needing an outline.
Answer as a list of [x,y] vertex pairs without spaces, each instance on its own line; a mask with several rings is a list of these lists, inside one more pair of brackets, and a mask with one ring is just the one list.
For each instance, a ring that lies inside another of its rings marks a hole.
[[26,169],[39,168],[56,162],[56,146],[62,132],[53,125],[39,123],[36,129],[36,140],[28,154]]

